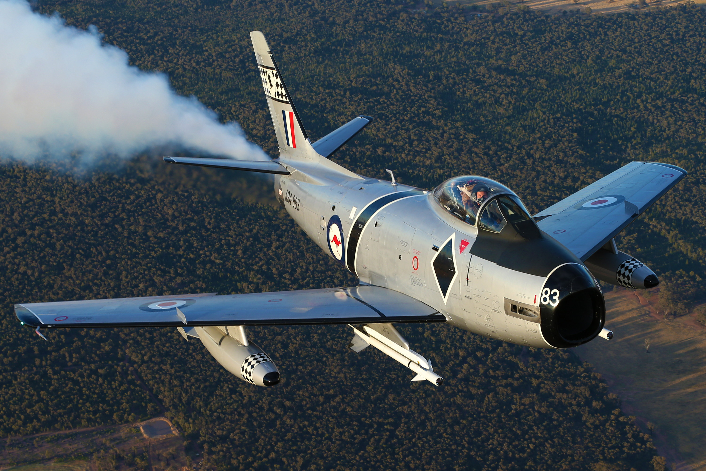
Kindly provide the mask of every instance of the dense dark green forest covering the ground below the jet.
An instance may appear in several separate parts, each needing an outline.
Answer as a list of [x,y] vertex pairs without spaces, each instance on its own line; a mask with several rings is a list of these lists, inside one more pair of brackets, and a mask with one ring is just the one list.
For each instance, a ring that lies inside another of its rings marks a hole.
[[[167,73],[276,156],[248,32],[265,32],[318,138],[376,121],[335,155],[355,172],[433,188],[481,174],[538,211],[631,160],[690,174],[618,240],[663,279],[665,314],[704,296],[706,16],[467,17],[397,1],[40,1],[96,25],[134,65]],[[253,328],[270,389],[229,376],[171,329],[21,328],[16,302],[352,285],[268,183],[145,154],[76,174],[0,167],[0,435],[167,417],[205,469],[661,470],[650,436],[570,351],[523,350],[407,326],[446,382],[410,383],[344,327]],[[148,391],[140,385],[146,384]],[[157,398],[157,401],[155,399]],[[77,457],[78,458],[78,457]]]

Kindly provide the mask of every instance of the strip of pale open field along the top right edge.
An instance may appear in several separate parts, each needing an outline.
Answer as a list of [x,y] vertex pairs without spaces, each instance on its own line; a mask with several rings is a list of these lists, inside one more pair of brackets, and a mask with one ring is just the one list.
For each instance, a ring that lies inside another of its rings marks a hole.
[[[441,0],[436,0],[434,3],[441,4]],[[501,0],[448,0],[449,6],[458,5],[469,12],[477,11],[478,13],[495,11],[498,8],[510,6],[510,10],[517,10],[518,7],[526,6],[530,10],[539,11],[547,14],[559,14],[563,12],[573,13],[622,13],[625,11],[635,11],[634,7],[639,4],[639,0],[525,0],[525,1],[501,1]],[[641,11],[647,11],[650,8],[660,8],[677,6],[685,4],[685,0],[647,0]],[[696,0],[697,5],[706,5],[706,0]],[[587,10],[590,8],[590,11]]]

